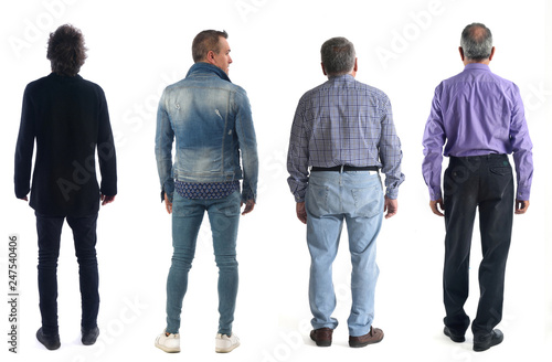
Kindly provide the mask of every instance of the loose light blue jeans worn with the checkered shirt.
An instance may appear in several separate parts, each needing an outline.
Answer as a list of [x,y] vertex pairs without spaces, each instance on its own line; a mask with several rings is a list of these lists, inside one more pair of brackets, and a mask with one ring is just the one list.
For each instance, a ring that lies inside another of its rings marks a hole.
[[374,318],[374,289],[379,276],[375,238],[383,216],[383,192],[374,171],[315,171],[306,195],[307,244],[310,252],[309,302],[315,329],[338,326],[331,265],[347,223],[351,253],[352,307],[349,334],[368,333]]

